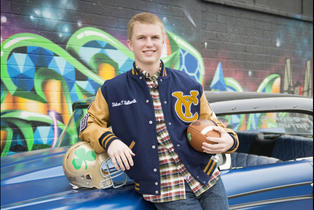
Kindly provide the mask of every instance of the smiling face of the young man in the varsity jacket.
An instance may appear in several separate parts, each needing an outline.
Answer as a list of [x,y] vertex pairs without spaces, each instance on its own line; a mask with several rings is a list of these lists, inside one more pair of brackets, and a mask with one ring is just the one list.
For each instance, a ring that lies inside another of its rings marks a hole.
[[128,39],[129,49],[134,53],[136,65],[150,74],[159,69],[164,35],[156,24],[136,23],[132,39]]

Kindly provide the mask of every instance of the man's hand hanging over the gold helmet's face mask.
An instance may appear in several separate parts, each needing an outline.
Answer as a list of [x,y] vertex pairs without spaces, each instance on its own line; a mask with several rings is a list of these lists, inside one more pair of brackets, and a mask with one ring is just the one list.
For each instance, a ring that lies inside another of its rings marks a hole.
[[120,165],[120,168],[123,171],[126,170],[125,168],[129,170],[130,165],[133,166],[132,156],[135,156],[135,154],[132,152],[132,150],[130,150],[130,148],[126,144],[124,144],[119,139],[113,140],[110,143],[107,152],[111,157],[114,167],[117,170],[119,170],[118,164]]

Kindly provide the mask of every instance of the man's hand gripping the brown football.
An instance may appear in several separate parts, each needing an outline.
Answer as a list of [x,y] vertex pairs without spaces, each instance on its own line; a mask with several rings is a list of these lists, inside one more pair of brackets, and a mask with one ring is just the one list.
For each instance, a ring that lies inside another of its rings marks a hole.
[[219,154],[229,150],[234,145],[234,139],[221,127],[213,127],[213,130],[220,133],[220,138],[207,137],[206,140],[217,144],[203,143],[202,149],[209,154]]

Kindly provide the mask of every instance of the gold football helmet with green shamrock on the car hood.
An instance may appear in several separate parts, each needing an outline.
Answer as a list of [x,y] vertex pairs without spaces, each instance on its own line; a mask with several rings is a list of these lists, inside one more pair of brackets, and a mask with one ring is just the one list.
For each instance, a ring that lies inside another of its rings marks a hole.
[[[89,142],[72,145],[63,157],[63,171],[73,189],[79,187],[121,187],[127,182],[127,174],[116,170],[107,152],[97,153]],[[124,180],[113,182],[113,178],[125,175]],[[116,185],[114,185],[116,183]]]

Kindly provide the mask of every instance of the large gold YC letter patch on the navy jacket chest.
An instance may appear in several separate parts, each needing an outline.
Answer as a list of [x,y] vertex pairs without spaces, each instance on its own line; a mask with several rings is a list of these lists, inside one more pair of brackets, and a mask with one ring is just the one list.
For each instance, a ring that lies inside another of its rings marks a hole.
[[[190,91],[191,95],[183,95],[183,92],[173,92],[172,95],[177,98],[177,102],[175,104],[175,110],[178,117],[185,121],[191,122],[198,119],[198,113],[191,113],[191,105],[198,104],[198,98],[196,97],[199,92],[196,90]],[[183,106],[185,108],[185,113],[183,112]]]

